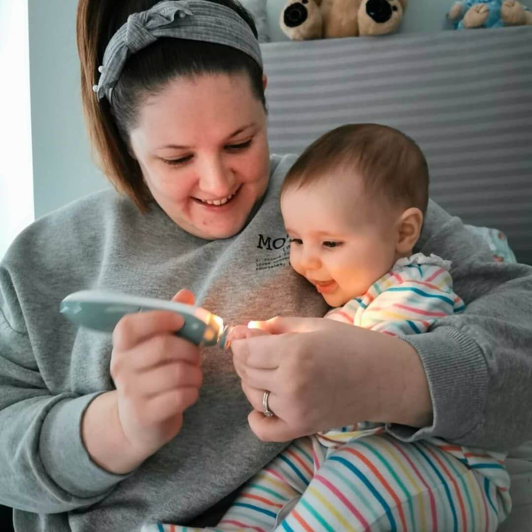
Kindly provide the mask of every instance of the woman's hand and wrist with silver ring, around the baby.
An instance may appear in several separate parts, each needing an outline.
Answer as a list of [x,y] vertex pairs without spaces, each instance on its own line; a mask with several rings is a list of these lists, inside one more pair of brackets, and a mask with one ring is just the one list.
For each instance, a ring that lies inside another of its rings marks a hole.
[[[235,339],[231,348],[260,439],[286,441],[363,420],[430,423],[427,379],[410,344],[325,318],[255,326],[263,333]],[[274,417],[262,413],[265,390]]]

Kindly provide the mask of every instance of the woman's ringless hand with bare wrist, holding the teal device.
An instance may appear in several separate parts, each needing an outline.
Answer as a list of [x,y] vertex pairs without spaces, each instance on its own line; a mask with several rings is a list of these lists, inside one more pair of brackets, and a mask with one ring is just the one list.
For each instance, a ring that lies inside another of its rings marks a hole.
[[[172,301],[193,304],[194,295],[181,290]],[[183,412],[197,401],[199,350],[173,334],[183,324],[173,312],[150,311],[128,314],[115,327],[111,377],[117,389],[96,397],[82,421],[87,451],[105,469],[137,467],[179,433]],[[96,437],[102,436],[96,423],[114,435]]]

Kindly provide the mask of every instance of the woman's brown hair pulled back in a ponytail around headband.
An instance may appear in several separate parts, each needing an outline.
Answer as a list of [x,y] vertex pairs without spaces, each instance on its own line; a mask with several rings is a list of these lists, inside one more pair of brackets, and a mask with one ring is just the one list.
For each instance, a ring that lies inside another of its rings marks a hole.
[[[178,76],[245,73],[253,94],[265,108],[262,69],[247,54],[221,44],[176,38],[160,38],[130,56],[117,85],[113,104],[97,101],[93,92],[107,43],[132,13],[146,11],[160,0],[79,0],[76,35],[81,66],[81,100],[90,142],[107,178],[127,194],[141,211],[152,196],[142,170],[129,149],[129,131],[136,127],[139,105],[148,95],[159,94]],[[230,7],[250,26],[253,17],[235,0],[210,0]]]

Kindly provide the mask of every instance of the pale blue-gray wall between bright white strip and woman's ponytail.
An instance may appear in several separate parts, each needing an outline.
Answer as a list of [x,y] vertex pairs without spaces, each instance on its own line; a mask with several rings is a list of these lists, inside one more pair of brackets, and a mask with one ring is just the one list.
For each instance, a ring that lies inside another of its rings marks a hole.
[[28,2],[36,218],[109,186],[90,157],[81,110],[77,4]]

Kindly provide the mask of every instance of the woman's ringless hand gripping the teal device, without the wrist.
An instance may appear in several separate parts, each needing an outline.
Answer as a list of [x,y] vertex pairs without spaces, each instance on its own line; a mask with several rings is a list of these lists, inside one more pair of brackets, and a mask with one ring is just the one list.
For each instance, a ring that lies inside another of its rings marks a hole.
[[[182,290],[172,301],[193,303],[194,295]],[[198,399],[199,350],[173,334],[183,324],[172,312],[144,312],[125,316],[113,332],[120,424],[131,446],[147,456],[176,436],[183,412]]]

